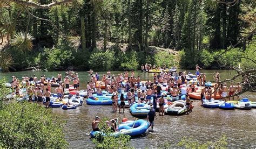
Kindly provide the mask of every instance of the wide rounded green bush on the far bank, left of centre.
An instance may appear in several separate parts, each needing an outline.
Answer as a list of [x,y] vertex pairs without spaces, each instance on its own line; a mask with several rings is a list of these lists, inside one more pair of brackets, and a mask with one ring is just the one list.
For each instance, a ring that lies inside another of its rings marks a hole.
[[110,70],[115,62],[114,53],[111,51],[95,52],[91,54],[89,65],[94,70]]

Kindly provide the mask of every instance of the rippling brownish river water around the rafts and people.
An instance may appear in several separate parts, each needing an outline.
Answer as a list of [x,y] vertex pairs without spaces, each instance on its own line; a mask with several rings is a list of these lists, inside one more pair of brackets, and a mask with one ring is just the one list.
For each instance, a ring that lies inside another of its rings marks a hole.
[[[193,70],[192,70],[193,71]],[[217,70],[204,70],[207,80],[213,80],[212,73]],[[218,70],[221,79],[231,78],[235,75],[234,71]],[[187,71],[188,72],[188,71]],[[106,72],[100,72],[100,76]],[[124,72],[112,72],[113,74]],[[37,77],[46,75],[47,77],[57,76],[58,72],[16,72],[0,73],[0,77],[6,77],[10,80],[12,75],[21,78],[23,75],[33,75]],[[64,74],[64,72],[62,72]],[[85,82],[90,79],[86,72],[78,72],[81,89],[85,88]],[[142,80],[147,78],[152,80],[152,74],[136,72]],[[245,93],[242,97],[248,97],[251,101],[256,101],[255,93]],[[200,106],[199,101],[194,101],[193,112],[183,116],[158,116],[155,120],[153,132],[147,132],[143,136],[131,139],[131,146],[136,148],[159,147],[163,145],[164,140],[170,142],[171,147],[177,147],[177,143],[183,137],[197,139],[200,142],[214,141],[223,134],[226,135],[228,147],[246,147],[255,148],[256,133],[256,109],[252,110],[221,110],[206,109]],[[93,147],[89,133],[91,131],[91,122],[94,117],[126,117],[129,120],[135,120],[131,116],[129,109],[125,113],[113,113],[112,106],[92,106],[84,104],[76,110],[52,109],[53,113],[60,115],[66,120],[65,137],[73,148]]]

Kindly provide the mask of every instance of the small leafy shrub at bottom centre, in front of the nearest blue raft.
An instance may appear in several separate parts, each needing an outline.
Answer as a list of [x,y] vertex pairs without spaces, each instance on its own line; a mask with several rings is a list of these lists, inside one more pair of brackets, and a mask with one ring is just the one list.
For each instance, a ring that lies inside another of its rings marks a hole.
[[[102,122],[105,122],[106,120],[107,118],[103,118]],[[110,130],[106,123],[100,123],[99,128],[106,135],[102,136],[98,133],[95,138],[92,138],[92,142],[97,148],[130,148],[130,136],[120,134],[117,137],[114,137],[111,135],[113,131]]]

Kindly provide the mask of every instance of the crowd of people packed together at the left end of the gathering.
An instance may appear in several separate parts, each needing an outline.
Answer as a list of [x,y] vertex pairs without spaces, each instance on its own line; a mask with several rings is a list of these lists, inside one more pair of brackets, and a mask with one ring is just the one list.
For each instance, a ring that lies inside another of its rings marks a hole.
[[[22,80],[19,80],[16,76],[12,76],[11,88],[12,93],[16,97],[28,95],[29,102],[35,101],[43,104],[43,98],[45,98],[45,106],[49,108],[51,92],[56,93],[58,100],[62,101],[65,89],[69,89],[70,84],[72,84],[75,90],[79,90],[79,83],[78,73],[69,70],[66,71],[65,77],[61,73],[51,78],[42,75],[39,79],[35,74],[30,77],[25,75],[22,77]],[[52,90],[52,87],[55,87],[54,90]],[[26,92],[20,93],[20,88],[26,88]]]

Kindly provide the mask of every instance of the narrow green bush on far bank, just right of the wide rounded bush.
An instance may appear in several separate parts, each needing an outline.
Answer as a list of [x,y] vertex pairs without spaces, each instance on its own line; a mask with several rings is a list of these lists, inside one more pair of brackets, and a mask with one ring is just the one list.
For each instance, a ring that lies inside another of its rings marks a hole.
[[136,51],[126,52],[122,57],[119,57],[121,60],[120,68],[123,70],[137,70],[138,63],[138,53]]

